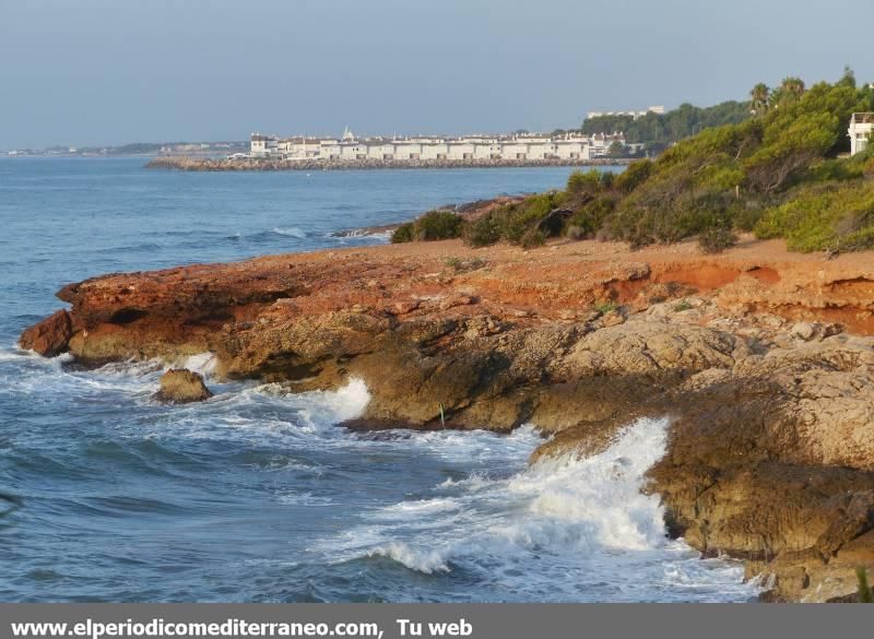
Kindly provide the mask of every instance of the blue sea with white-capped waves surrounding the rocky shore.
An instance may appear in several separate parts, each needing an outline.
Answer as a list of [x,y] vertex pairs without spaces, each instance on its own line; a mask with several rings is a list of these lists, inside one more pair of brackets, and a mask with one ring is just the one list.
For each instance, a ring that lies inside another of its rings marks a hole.
[[560,187],[570,169],[186,174],[140,158],[0,161],[0,601],[744,601],[732,563],[664,536],[642,473],[665,423],[528,466],[532,427],[352,434],[368,393],[94,371],[19,350],[64,283],[367,245],[332,232]]

